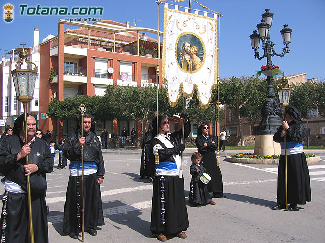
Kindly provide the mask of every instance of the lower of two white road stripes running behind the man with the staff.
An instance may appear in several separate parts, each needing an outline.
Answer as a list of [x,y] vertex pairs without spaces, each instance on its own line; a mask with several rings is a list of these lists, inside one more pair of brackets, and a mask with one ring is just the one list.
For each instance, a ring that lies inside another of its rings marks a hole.
[[[151,207],[151,201],[140,201],[139,203],[130,204],[130,205],[122,205],[113,208],[107,208],[103,210],[103,215],[110,216],[114,214],[122,214],[127,213],[135,210],[142,210]],[[63,222],[63,214],[55,215],[55,216],[48,216],[47,217],[47,224],[60,224]]]

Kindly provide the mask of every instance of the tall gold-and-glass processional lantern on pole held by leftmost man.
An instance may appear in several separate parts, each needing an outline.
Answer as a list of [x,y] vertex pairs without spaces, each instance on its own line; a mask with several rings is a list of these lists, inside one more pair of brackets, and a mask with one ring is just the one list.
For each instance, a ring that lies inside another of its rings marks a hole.
[[[16,63],[16,69],[11,71],[13,82],[15,85],[17,100],[24,105],[25,114],[25,143],[28,144],[28,130],[27,130],[27,104],[33,99],[35,79],[36,79],[36,65],[29,62],[28,54],[24,49],[24,42],[22,45],[22,51],[19,54],[19,61]],[[25,63],[27,68],[21,68]],[[34,65],[34,68],[32,68]],[[26,156],[26,165],[29,164],[29,156]],[[30,230],[30,242],[34,243],[34,230],[32,223],[32,208],[31,208],[31,192],[30,192],[30,176],[27,176],[27,195],[28,195],[28,209],[29,209],[29,230]]]

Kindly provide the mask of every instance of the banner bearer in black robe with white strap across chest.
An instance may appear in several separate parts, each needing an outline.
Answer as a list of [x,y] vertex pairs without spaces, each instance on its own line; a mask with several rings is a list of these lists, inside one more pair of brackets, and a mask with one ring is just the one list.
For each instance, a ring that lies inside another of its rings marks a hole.
[[[191,131],[191,125],[187,114],[182,114],[182,117],[185,123],[185,139]],[[184,239],[187,236],[183,231],[187,230],[189,222],[184,177],[179,178],[180,152],[185,149],[185,145],[181,143],[183,131],[169,134],[167,115],[159,115],[158,121],[154,119],[152,123],[152,136],[155,137],[150,142],[150,161],[155,161],[157,148],[159,164],[156,165],[156,176],[153,182],[150,230],[152,234],[157,234],[157,239],[160,241],[166,241],[166,236],[173,234]]]

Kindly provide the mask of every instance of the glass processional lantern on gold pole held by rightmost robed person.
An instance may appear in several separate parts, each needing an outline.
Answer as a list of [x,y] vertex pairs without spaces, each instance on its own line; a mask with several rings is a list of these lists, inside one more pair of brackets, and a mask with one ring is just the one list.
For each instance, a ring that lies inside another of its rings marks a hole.
[[[280,88],[282,86],[282,88]],[[280,105],[284,109],[284,120],[286,120],[285,107],[290,103],[291,89],[289,87],[288,81],[284,77],[281,78],[281,83],[277,85],[277,90],[279,94]],[[285,209],[288,210],[288,177],[287,177],[287,152],[286,152],[286,135],[284,135],[284,161],[285,161]]]

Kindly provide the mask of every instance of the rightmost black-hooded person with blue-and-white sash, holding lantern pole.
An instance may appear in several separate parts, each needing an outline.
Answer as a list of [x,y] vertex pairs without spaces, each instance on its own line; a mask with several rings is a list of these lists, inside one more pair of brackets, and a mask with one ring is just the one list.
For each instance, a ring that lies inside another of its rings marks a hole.
[[307,160],[302,142],[306,139],[306,130],[301,121],[301,113],[293,106],[286,107],[286,121],[273,136],[273,141],[281,143],[281,155],[278,168],[277,205],[271,209],[285,209],[285,145],[287,147],[287,198],[289,210],[298,211],[298,204],[311,201],[310,178]]

